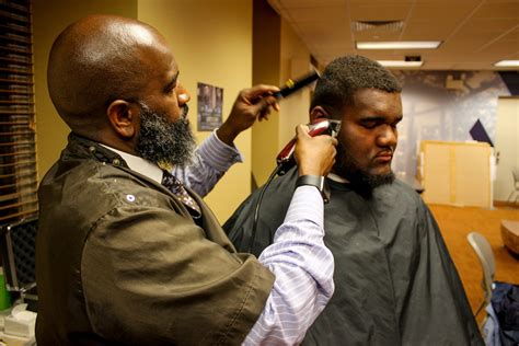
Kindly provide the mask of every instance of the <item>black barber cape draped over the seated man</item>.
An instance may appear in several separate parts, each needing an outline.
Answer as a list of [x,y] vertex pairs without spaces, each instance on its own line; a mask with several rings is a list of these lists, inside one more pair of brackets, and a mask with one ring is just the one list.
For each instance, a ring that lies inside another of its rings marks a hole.
[[[260,211],[253,253],[272,243],[296,188],[297,170],[274,180]],[[364,198],[328,178],[324,242],[335,257],[335,293],[303,345],[483,345],[454,264],[419,195],[400,181]],[[223,226],[249,250],[251,195]]]

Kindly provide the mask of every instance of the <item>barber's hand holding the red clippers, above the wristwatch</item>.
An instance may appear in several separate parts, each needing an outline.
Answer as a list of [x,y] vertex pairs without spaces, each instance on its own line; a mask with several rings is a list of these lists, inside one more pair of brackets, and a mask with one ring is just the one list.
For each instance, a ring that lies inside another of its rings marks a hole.
[[305,125],[296,128],[296,161],[299,175],[326,176],[335,163],[337,139],[327,135],[311,137]]

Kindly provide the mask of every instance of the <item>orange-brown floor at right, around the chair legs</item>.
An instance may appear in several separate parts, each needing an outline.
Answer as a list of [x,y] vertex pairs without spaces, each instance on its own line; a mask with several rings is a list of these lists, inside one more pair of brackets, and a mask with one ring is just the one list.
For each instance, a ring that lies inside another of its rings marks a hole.
[[481,288],[483,273],[475,253],[466,241],[470,232],[482,233],[491,243],[496,264],[495,279],[519,285],[519,256],[512,255],[503,245],[500,235],[501,220],[519,221],[519,206],[499,206],[493,210],[440,205],[429,205],[429,208],[441,229],[473,311],[483,301]]

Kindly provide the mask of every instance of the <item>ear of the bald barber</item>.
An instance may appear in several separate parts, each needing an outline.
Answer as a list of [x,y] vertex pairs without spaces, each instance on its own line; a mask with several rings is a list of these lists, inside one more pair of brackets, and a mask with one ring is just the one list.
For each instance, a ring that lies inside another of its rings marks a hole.
[[137,132],[140,108],[135,103],[115,100],[108,105],[106,115],[114,130],[122,137],[130,139]]

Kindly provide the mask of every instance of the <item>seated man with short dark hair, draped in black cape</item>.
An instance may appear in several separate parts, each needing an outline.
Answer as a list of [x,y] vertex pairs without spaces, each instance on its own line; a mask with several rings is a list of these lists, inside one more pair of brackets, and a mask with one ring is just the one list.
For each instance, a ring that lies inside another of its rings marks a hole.
[[[318,81],[310,119],[341,119],[327,176],[324,242],[335,257],[335,293],[305,345],[481,345],[462,284],[427,206],[394,180],[401,85],[360,56],[332,61]],[[260,254],[282,223],[297,169],[273,181],[251,242],[258,192],[223,226],[241,251]]]

